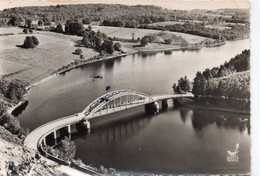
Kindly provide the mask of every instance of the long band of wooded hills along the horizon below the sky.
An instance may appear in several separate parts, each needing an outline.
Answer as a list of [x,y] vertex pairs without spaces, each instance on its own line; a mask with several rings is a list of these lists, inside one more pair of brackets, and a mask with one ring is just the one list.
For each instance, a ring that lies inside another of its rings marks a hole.
[[26,19],[42,20],[43,23],[81,20],[84,24],[98,22],[107,26],[138,27],[141,24],[171,20],[197,20],[211,24],[223,21],[247,23],[250,16],[248,9],[186,11],[151,5],[80,4],[5,9],[0,13],[0,18],[15,18],[11,24]]

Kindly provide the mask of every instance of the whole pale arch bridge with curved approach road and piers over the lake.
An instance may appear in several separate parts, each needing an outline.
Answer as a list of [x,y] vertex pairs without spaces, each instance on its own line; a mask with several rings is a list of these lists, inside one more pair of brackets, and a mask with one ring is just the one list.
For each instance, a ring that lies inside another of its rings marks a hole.
[[[117,90],[108,92],[92,103],[90,103],[82,112],[66,116],[60,119],[48,122],[27,135],[24,140],[24,145],[35,150],[40,150],[45,156],[50,156],[43,150],[43,146],[46,145],[46,138],[53,138],[57,144],[57,140],[64,138],[64,134],[68,135],[76,132],[76,124],[84,122],[87,129],[90,129],[89,120],[95,117],[123,111],[126,109],[145,105],[147,112],[159,113],[159,103],[162,101],[163,106],[168,106],[167,100],[178,98],[193,98],[193,94],[162,94],[162,95],[147,95],[141,92],[131,90]],[[64,133],[64,131],[66,131]],[[55,158],[51,156],[51,158]],[[58,158],[56,158],[58,160]]]

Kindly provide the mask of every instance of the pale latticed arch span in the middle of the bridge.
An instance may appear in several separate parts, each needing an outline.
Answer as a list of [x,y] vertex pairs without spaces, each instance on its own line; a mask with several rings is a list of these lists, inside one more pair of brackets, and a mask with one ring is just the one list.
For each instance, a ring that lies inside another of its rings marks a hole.
[[121,108],[127,108],[132,106],[138,106],[153,102],[153,97],[136,91],[131,90],[116,90],[104,94],[90,103],[82,113],[86,117],[96,116],[104,113],[109,113],[109,110],[114,111],[122,110]]

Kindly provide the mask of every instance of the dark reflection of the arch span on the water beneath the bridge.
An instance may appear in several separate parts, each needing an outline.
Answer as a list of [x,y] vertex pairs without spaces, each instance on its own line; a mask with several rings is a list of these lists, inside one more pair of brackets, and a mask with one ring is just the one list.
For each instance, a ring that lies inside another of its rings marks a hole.
[[146,114],[144,107],[137,107],[115,114],[92,119],[91,132],[81,130],[78,137],[89,140],[92,135],[98,135],[101,143],[110,143],[130,138],[145,129],[154,115]]

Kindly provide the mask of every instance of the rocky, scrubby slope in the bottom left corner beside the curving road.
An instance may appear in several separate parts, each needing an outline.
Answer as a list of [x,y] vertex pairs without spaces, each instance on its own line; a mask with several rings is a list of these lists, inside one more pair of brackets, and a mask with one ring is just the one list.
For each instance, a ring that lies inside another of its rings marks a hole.
[[0,175],[62,175],[38,152],[22,146],[22,140],[0,126]]

